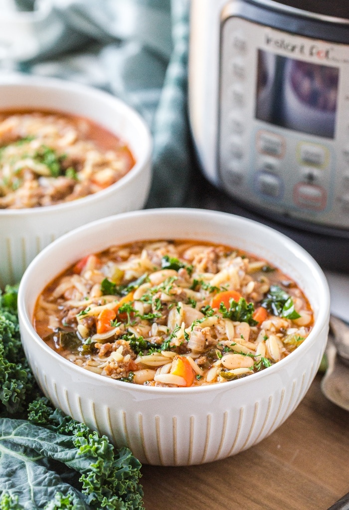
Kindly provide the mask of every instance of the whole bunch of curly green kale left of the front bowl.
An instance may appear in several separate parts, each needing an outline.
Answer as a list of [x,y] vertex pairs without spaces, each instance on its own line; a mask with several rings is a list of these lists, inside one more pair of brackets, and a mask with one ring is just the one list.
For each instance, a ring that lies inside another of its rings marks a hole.
[[0,510],[142,510],[141,464],[54,409],[26,362],[17,287],[0,293]]

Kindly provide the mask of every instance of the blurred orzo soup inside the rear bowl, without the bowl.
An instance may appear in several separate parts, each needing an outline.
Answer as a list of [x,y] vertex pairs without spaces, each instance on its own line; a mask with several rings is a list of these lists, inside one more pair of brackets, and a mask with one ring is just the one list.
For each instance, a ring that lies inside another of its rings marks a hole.
[[0,209],[85,197],[116,183],[134,164],[128,147],[89,119],[0,113]]

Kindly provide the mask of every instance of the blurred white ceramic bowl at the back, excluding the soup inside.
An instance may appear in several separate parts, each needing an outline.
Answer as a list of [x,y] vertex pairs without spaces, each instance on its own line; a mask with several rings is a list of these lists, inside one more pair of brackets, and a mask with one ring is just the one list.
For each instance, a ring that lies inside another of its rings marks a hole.
[[45,109],[76,114],[118,135],[136,159],[133,168],[103,191],[71,202],[32,209],[0,209],[0,288],[19,281],[47,244],[75,227],[142,209],[151,182],[152,141],[143,119],[116,97],[77,83],[13,75],[0,80],[0,111]]

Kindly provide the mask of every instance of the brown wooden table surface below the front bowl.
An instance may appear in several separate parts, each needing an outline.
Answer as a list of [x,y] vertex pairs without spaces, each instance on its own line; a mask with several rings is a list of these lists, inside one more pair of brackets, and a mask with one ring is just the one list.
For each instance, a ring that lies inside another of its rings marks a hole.
[[242,453],[201,466],[143,466],[146,510],[327,510],[349,492],[349,413],[324,397],[320,381]]

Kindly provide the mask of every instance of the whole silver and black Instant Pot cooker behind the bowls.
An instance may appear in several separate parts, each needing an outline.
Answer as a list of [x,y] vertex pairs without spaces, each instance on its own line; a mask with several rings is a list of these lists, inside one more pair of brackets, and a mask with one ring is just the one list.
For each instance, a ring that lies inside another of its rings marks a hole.
[[207,180],[349,271],[345,4],[192,0],[189,111]]

